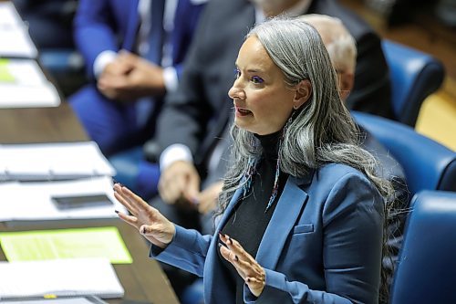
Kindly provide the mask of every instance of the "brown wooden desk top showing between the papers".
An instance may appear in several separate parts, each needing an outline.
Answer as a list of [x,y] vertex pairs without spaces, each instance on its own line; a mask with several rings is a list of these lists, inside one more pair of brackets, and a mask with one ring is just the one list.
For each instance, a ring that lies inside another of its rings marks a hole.
[[[0,110],[0,143],[86,141],[86,133],[67,103],[49,109]],[[154,304],[179,303],[159,264],[148,257],[149,246],[139,233],[119,219],[42,222],[0,222],[0,231],[29,231],[115,225],[119,228],[133,263],[115,265],[125,289],[123,299]],[[0,260],[5,254],[0,250]],[[122,303],[122,299],[109,300]]]

